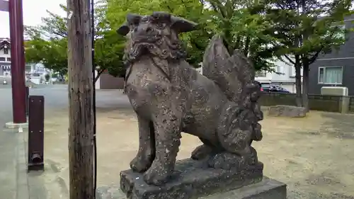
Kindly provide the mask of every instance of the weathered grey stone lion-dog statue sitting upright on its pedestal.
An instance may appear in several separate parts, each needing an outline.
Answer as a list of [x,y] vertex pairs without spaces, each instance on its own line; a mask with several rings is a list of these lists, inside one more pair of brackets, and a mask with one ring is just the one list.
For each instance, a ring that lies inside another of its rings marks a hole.
[[242,169],[258,162],[253,140],[262,139],[260,88],[244,55],[232,56],[215,35],[205,51],[202,74],[185,61],[178,34],[196,24],[169,13],[128,14],[117,31],[127,35],[126,92],[137,113],[139,151],[133,171],[161,185],[176,163],[181,132],[200,138],[192,158],[217,169]]

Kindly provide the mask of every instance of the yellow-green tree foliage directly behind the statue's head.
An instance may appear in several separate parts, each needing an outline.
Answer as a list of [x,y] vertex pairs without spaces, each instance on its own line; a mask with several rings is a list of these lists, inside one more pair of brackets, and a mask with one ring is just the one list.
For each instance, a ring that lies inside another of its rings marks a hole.
[[118,29],[125,22],[127,13],[138,13],[140,15],[152,14],[152,11],[166,11],[174,16],[187,18],[190,21],[199,23],[199,29],[191,33],[183,33],[181,40],[188,53],[187,61],[194,67],[199,67],[202,62],[202,55],[212,34],[208,33],[205,23],[207,18],[206,10],[198,0],[153,0],[153,1],[127,1],[110,0],[102,1],[107,5],[106,18],[110,27]]

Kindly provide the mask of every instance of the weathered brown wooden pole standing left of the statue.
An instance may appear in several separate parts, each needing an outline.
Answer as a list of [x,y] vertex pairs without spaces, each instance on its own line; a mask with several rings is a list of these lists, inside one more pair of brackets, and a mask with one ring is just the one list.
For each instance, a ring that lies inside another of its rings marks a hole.
[[88,0],[67,0],[70,199],[93,199],[93,75]]

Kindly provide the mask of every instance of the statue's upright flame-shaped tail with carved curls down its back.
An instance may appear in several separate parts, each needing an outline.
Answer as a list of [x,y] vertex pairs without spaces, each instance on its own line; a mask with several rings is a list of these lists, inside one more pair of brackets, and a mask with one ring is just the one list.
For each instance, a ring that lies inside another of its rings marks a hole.
[[258,121],[263,120],[263,113],[257,101],[261,89],[254,81],[255,70],[249,59],[239,50],[230,56],[222,37],[215,35],[205,50],[202,74],[215,81],[229,101],[238,105],[237,113],[234,113],[236,119],[229,127],[232,129],[222,136],[232,139],[236,133],[247,133],[251,134],[250,142],[260,141],[262,132]]

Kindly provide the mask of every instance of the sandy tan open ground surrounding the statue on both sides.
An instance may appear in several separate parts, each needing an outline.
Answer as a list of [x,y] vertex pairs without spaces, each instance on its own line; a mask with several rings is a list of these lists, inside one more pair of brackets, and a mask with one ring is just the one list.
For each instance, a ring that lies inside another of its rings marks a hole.
[[[57,168],[46,178],[67,185],[67,118],[62,114],[46,122],[47,162]],[[353,120],[353,115],[321,112],[297,119],[265,117],[263,140],[254,144],[265,176],[287,183],[289,199],[354,198]],[[98,186],[117,184],[138,146],[134,113],[99,109],[97,133]],[[196,137],[183,134],[178,159],[189,157],[198,144]]]

